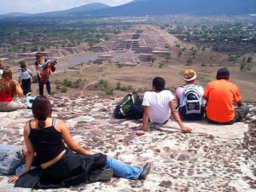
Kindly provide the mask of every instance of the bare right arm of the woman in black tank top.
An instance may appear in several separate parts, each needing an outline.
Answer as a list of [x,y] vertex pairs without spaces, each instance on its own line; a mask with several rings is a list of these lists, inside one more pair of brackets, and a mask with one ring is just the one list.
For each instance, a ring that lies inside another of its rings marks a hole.
[[79,154],[92,154],[90,151],[82,148],[78,143],[75,143],[73,141],[73,137],[67,130],[67,125],[61,119],[57,119],[55,129],[61,131],[61,136],[64,142],[67,143],[67,146],[71,148],[73,151]]

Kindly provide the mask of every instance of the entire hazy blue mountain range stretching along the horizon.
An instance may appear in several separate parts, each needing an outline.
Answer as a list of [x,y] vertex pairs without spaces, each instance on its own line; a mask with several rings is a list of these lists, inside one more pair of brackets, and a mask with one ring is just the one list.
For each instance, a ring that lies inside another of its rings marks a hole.
[[[111,17],[145,15],[252,15],[256,14],[256,0],[134,0],[117,7],[90,3],[63,11],[28,15],[30,17]],[[4,17],[27,16],[13,13]]]

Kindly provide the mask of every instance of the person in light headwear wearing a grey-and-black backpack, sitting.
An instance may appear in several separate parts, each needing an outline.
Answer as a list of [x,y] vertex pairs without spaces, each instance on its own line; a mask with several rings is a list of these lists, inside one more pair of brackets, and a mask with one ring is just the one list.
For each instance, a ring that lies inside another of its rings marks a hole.
[[186,70],[183,77],[186,84],[176,90],[178,113],[184,119],[201,119],[204,115],[204,89],[201,85],[195,84],[197,76],[194,70]]

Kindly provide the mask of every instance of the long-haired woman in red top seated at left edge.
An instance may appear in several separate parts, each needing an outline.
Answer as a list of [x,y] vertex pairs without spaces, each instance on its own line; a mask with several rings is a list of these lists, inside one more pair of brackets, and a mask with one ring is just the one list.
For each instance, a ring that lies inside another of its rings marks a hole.
[[0,79],[0,112],[15,111],[22,108],[22,103],[14,101],[15,96],[23,96],[20,84],[13,80],[10,69],[3,70],[3,77]]

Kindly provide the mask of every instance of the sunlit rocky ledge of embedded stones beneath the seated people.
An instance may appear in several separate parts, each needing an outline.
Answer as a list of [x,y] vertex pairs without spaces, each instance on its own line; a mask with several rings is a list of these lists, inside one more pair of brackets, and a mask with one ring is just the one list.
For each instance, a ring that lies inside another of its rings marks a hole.
[[[137,137],[141,121],[113,119],[113,108],[120,98],[49,99],[53,116],[66,121],[73,138],[84,148],[132,165],[151,162],[152,170],[145,181],[113,177],[108,183],[82,183],[69,189],[33,191],[256,190],[255,121],[250,128],[241,122],[209,125],[206,120],[185,121],[193,133],[183,134],[171,119],[166,125],[150,125],[147,134]],[[254,119],[253,114],[255,110],[247,122]],[[32,119],[31,109],[0,113],[0,143],[24,145],[22,132],[28,119]],[[14,188],[8,178],[0,176],[0,191],[32,191]]]

